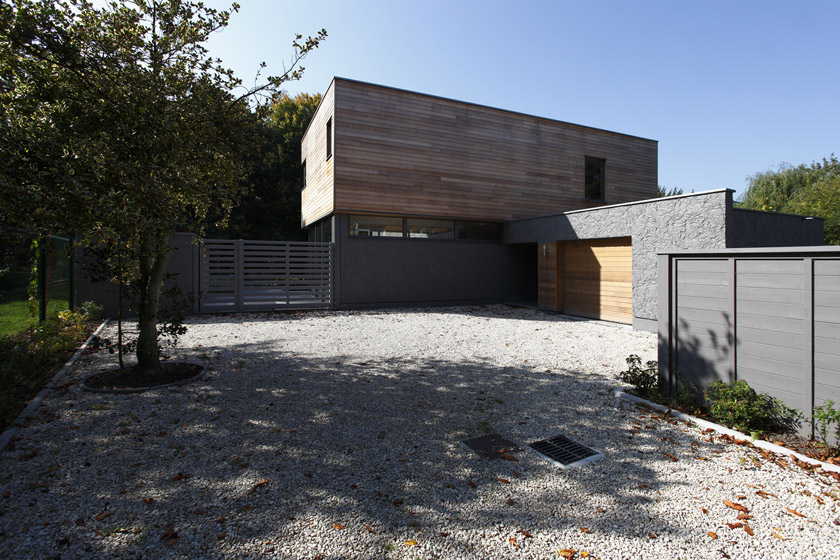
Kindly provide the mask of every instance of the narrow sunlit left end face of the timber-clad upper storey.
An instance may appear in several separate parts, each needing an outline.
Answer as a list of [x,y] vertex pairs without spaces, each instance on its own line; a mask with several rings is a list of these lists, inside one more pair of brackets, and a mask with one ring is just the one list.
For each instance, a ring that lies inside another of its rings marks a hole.
[[301,161],[306,162],[306,187],[300,196],[302,227],[327,216],[334,208],[335,155],[327,159],[327,121],[333,119],[335,134],[334,108],[335,88],[331,86],[324,94],[301,143]]

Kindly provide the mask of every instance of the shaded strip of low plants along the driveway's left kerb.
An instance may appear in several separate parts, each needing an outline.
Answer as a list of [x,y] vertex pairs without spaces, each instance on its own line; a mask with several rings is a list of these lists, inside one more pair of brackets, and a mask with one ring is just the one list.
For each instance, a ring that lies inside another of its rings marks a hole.
[[0,425],[6,429],[93,329],[71,311],[48,315],[41,325],[0,336]]

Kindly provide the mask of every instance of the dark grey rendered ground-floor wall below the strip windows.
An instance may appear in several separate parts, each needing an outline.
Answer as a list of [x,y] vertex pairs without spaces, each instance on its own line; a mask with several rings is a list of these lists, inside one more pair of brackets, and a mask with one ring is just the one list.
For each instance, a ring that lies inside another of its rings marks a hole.
[[335,215],[342,309],[469,305],[536,298],[536,250],[498,242],[351,238]]

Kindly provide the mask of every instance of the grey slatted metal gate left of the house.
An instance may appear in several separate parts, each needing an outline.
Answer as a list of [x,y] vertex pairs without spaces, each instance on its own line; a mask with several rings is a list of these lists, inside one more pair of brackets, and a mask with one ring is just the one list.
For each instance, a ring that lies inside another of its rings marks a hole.
[[329,309],[332,243],[205,239],[199,312]]

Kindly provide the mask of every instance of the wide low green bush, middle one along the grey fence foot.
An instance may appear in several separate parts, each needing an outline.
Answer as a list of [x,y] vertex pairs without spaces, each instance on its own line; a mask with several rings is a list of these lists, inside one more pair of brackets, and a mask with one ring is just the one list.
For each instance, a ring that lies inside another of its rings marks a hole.
[[792,433],[802,414],[779,399],[756,393],[746,381],[715,381],[704,393],[715,421],[745,433]]

